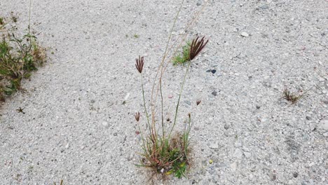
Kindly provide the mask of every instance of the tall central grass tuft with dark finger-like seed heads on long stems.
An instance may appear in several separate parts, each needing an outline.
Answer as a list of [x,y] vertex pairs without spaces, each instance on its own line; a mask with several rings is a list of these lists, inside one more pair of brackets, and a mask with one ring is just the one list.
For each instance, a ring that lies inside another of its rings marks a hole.
[[[179,14],[179,13],[178,13]],[[176,19],[175,19],[176,21]],[[173,25],[174,27],[174,25]],[[172,34],[172,32],[171,32]],[[171,35],[169,36],[168,43],[170,42]],[[144,114],[145,114],[145,128],[142,129],[142,123],[140,123],[141,114],[137,112],[135,114],[135,120],[137,121],[137,126],[142,139],[142,153],[140,163],[137,164],[138,167],[150,167],[157,174],[165,175],[174,174],[175,177],[181,178],[185,177],[186,170],[190,166],[190,158],[189,153],[191,151],[190,148],[190,131],[192,128],[191,123],[191,114],[188,114],[186,118],[186,122],[184,124],[183,130],[175,130],[175,126],[177,125],[177,117],[179,111],[179,102],[182,97],[182,91],[184,89],[184,84],[186,82],[186,76],[189,74],[189,69],[191,67],[191,60],[193,60],[201,50],[205,47],[208,40],[205,41],[205,38],[193,39],[193,41],[186,46],[186,50],[189,50],[188,56],[186,56],[187,60],[185,61],[188,64],[184,78],[182,81],[181,88],[179,90],[179,97],[177,100],[177,105],[175,107],[175,117],[172,121],[172,125],[168,125],[164,122],[164,114],[163,114],[163,93],[162,93],[162,78],[164,71],[167,67],[167,64],[172,62],[172,60],[167,60],[165,65],[165,58],[168,55],[168,43],[165,49],[165,53],[163,55],[163,59],[160,62],[160,66],[158,67],[158,72],[156,74],[155,81],[153,83],[152,93],[151,93],[151,111],[148,111],[146,98],[144,93],[144,82],[143,82],[143,67],[144,67],[144,57],[140,57],[136,59],[135,67],[140,74],[140,81],[142,86],[142,99],[144,104]],[[158,75],[159,74],[159,75]],[[155,87],[157,85],[157,91],[155,93]],[[156,107],[157,97],[160,97],[160,108]],[[196,105],[200,104],[200,100],[196,102]],[[156,108],[159,108],[159,114],[156,111]],[[156,117],[159,118],[159,123],[157,122]]]

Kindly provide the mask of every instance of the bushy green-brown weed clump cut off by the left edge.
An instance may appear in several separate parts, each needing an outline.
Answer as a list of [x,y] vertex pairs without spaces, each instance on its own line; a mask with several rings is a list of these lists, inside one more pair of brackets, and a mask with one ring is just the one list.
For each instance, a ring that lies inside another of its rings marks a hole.
[[[1,21],[6,25],[4,18]],[[6,27],[0,31],[0,100],[4,101],[6,96],[22,90],[23,78],[29,78],[46,61],[46,54],[30,31],[22,38]]]

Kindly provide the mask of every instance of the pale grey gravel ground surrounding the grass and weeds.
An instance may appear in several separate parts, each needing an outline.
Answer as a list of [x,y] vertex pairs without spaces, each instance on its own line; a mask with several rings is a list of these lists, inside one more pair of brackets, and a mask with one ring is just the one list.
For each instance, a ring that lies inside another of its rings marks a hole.
[[[174,39],[205,4],[185,2]],[[18,13],[20,29],[28,7],[0,1],[1,16]],[[134,114],[143,110],[135,58],[146,56],[150,97],[178,8],[33,0],[32,29],[49,60],[24,82],[27,93],[1,108],[1,184],[151,184],[134,165]],[[187,30],[189,39],[196,34],[210,42],[191,65],[179,114],[179,123],[193,116],[193,167],[188,179],[154,184],[328,184],[328,1],[208,1]],[[168,117],[185,69],[166,71]],[[310,90],[290,104],[285,88]]]

